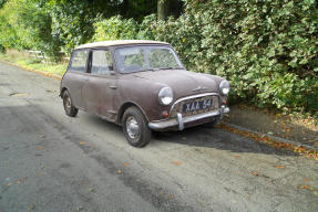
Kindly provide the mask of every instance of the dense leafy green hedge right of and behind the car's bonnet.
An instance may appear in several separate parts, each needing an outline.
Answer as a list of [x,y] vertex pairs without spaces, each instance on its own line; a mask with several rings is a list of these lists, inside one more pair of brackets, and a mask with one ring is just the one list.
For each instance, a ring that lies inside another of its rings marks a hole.
[[172,43],[192,71],[228,78],[233,100],[318,110],[315,0],[187,1],[176,20],[145,18],[139,35]]

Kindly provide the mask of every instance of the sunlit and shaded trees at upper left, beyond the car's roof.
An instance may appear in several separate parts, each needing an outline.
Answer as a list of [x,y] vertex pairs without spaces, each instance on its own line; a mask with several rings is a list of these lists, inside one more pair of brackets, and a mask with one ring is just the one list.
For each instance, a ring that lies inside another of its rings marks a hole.
[[99,20],[120,14],[141,21],[156,11],[155,4],[156,0],[0,0],[0,50],[37,49],[58,59],[60,51],[70,53],[89,42]]

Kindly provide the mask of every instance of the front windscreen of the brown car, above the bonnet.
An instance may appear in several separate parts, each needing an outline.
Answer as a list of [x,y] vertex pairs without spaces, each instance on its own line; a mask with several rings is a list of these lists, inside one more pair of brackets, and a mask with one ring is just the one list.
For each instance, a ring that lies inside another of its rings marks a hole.
[[168,46],[127,46],[115,50],[115,62],[121,73],[184,68]]

